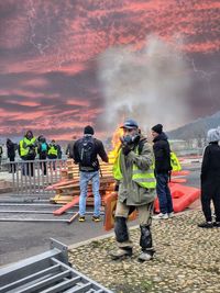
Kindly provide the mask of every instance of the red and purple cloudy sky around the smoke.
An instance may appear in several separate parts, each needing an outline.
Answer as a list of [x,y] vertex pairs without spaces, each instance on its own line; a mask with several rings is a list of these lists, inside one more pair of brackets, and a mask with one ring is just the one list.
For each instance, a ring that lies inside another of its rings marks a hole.
[[[4,0],[0,2],[0,136],[25,129],[69,139],[103,113],[99,55],[174,44],[188,61],[191,120],[219,111],[220,2],[211,0]],[[117,126],[117,125],[116,125]]]

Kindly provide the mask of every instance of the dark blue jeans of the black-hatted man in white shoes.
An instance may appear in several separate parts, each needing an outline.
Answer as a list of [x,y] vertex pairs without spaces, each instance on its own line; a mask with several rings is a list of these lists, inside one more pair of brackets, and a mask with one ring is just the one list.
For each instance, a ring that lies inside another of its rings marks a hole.
[[156,174],[156,192],[158,196],[160,210],[161,213],[172,213],[173,202],[172,194],[168,187],[168,174],[167,173],[157,173]]

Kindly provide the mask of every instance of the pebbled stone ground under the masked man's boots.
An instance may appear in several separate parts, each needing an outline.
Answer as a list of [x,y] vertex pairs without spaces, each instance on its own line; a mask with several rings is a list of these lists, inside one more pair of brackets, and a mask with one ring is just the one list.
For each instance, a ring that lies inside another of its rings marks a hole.
[[140,263],[139,228],[131,229],[134,255],[112,261],[113,237],[69,250],[73,267],[118,293],[220,292],[220,228],[201,229],[199,210],[153,221],[155,258]]

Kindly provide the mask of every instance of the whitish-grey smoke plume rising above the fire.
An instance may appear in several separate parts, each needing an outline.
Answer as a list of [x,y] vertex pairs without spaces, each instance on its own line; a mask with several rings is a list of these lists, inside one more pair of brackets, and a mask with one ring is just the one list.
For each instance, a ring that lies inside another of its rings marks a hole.
[[174,46],[155,36],[141,52],[128,46],[107,49],[99,58],[99,81],[109,129],[129,117],[145,132],[157,123],[167,131],[188,120],[186,63]]

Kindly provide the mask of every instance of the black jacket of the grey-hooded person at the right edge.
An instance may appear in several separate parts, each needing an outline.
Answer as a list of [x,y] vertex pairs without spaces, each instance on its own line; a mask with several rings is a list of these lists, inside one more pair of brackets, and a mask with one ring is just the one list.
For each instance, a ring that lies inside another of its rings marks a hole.
[[201,164],[201,193],[215,195],[220,192],[220,146],[210,143],[204,153]]

